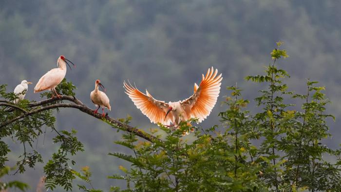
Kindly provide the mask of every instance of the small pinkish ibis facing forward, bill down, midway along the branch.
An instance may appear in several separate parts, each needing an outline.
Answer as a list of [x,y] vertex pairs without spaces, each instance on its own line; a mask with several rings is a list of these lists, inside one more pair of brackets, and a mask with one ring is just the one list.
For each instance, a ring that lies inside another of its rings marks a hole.
[[111,111],[110,100],[109,97],[102,91],[98,90],[98,87],[102,88],[105,92],[105,88],[99,79],[95,80],[95,90],[90,93],[91,101],[98,106],[98,108],[94,111],[94,115],[97,113],[98,109],[102,107],[102,117],[104,117],[104,107]]

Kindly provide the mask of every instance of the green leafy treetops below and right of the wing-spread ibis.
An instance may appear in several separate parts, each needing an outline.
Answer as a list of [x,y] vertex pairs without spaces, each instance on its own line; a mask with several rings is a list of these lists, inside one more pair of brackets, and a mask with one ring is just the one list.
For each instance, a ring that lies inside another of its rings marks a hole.
[[[204,130],[183,122],[172,132],[160,125],[157,137],[166,134],[165,139],[153,143],[125,134],[115,143],[133,154],[110,155],[132,167],[120,166],[123,175],[109,178],[125,180],[127,189],[122,191],[340,191],[340,150],[321,144],[330,136],[326,118],[334,118],[324,113],[329,102],[324,88],[308,80],[305,95],[287,91],[283,81],[289,75],[276,66],[288,57],[281,45],[271,52],[273,62],[265,75],[246,77],[268,85],[255,98],[259,113],[243,110],[249,101],[241,98],[237,85],[227,87],[232,97],[226,97],[228,108],[219,114],[222,126]],[[292,99],[303,99],[302,110],[286,103]],[[188,142],[182,133],[193,128],[196,139]],[[326,154],[338,161],[328,162]]]

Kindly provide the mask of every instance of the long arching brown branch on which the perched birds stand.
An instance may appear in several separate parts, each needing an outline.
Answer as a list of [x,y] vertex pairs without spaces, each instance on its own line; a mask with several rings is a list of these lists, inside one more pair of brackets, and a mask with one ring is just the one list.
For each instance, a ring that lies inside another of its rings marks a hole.
[[[53,102],[61,101],[61,100],[68,100],[68,101],[71,101],[73,103],[51,104]],[[51,104],[51,105],[48,105],[48,104]],[[46,105],[46,106],[43,106],[43,105]],[[40,107],[40,106],[43,106],[43,107]],[[14,106],[11,106],[11,107],[14,107]],[[136,136],[144,138],[148,141],[154,142],[156,139],[158,139],[151,134],[145,133],[144,131],[142,131],[140,129],[134,128],[134,127],[127,125],[127,124],[124,124],[124,123],[117,121],[117,120],[115,120],[109,116],[102,117],[101,114],[95,114],[94,115],[94,110],[87,107],[80,100],[78,100],[76,97],[73,97],[73,96],[61,96],[61,98],[45,99],[42,101],[38,101],[38,102],[29,104],[29,108],[32,108],[32,107],[39,107],[39,108],[36,108],[32,111],[26,111],[22,115],[19,115],[13,119],[7,120],[6,122],[0,124],[0,129],[3,129],[5,126],[7,126],[7,125],[9,125],[9,124],[11,124],[17,120],[20,120],[20,119],[25,118],[25,117],[30,116],[30,115],[37,114],[37,113],[42,112],[42,111],[46,111],[46,110],[50,110],[50,109],[56,109],[56,108],[75,108],[75,109],[80,110],[83,113],[86,113],[86,114],[91,115],[97,119],[101,119],[101,120],[105,121],[106,123],[113,126],[114,128],[118,128],[122,131],[126,131],[129,133],[135,134]],[[15,106],[15,108],[17,108],[17,106]]]

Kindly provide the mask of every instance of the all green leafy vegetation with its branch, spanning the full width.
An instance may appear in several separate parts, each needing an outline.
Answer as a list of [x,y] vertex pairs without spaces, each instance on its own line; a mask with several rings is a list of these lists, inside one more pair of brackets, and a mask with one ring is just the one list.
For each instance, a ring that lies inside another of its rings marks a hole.
[[[289,74],[278,64],[281,60],[282,65],[282,58],[288,57],[281,45],[282,42],[278,42],[277,48],[271,52],[273,61],[266,67],[264,75],[246,77],[246,80],[266,85],[254,99],[260,108],[258,113],[246,110],[249,101],[242,98],[242,90],[235,85],[227,87],[231,96],[227,96],[224,102],[227,110],[219,114],[221,125],[207,129],[182,122],[175,131],[159,124],[159,128],[150,130],[149,134],[130,127],[131,117],[118,121],[103,118],[117,131],[125,131],[122,139],[114,142],[132,152],[126,154],[114,150],[109,153],[130,163],[129,167],[118,166],[121,174],[108,176],[107,179],[126,183],[122,190],[120,186],[112,186],[110,191],[340,191],[341,150],[329,149],[321,143],[331,136],[327,118],[334,119],[333,115],[325,113],[329,100],[322,93],[324,87],[308,79],[306,94],[289,91],[284,83]],[[83,167],[80,173],[71,167],[77,163],[71,156],[84,151],[76,130],[57,131],[54,127],[53,109],[73,107],[74,104],[63,102],[69,97],[41,102],[25,99],[14,105],[9,101],[17,96],[6,93],[5,85],[0,87],[1,97],[7,100],[0,103],[1,138],[12,137],[24,147],[21,160],[17,162],[17,172],[24,173],[25,167],[35,167],[36,163],[43,162],[32,143],[46,125],[57,133],[53,142],[58,143],[59,149],[44,167],[45,187],[54,190],[61,186],[70,191],[74,179],[79,178],[83,181],[77,184],[79,190],[101,192],[94,187],[89,167]],[[75,96],[75,88],[64,80],[57,90]],[[93,115],[92,110],[83,109],[79,100],[73,99],[76,98],[66,100],[80,106],[73,108]],[[291,104],[293,100],[300,104]],[[93,115],[99,118],[97,116],[100,115]],[[191,119],[193,125],[196,122]],[[184,134],[190,131],[194,131],[195,136],[191,141]],[[1,145],[1,169],[5,174],[9,172],[4,165],[10,150],[5,142],[2,141]],[[334,156],[336,161],[329,162],[324,156]],[[1,183],[1,186],[23,191],[28,187],[18,181]]]

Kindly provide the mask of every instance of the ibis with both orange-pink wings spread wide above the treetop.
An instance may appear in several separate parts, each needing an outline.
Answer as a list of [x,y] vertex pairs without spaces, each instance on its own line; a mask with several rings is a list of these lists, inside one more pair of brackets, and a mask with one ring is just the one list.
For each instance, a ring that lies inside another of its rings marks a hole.
[[206,76],[202,75],[199,86],[194,84],[194,93],[183,101],[169,102],[159,101],[152,97],[146,90],[146,94],[136,87],[124,81],[126,94],[133,100],[135,106],[146,115],[152,123],[161,123],[168,126],[178,127],[181,121],[189,118],[198,118],[203,121],[212,111],[220,92],[222,75],[218,70],[208,69]]

